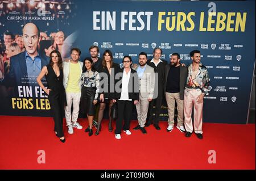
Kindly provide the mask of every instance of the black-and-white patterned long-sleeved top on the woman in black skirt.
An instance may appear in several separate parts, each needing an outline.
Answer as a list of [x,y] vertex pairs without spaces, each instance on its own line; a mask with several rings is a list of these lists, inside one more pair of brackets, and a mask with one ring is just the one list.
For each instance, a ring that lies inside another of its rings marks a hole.
[[85,71],[82,73],[81,83],[84,87],[96,87],[94,99],[98,99],[98,92],[100,92],[100,74],[98,71]]

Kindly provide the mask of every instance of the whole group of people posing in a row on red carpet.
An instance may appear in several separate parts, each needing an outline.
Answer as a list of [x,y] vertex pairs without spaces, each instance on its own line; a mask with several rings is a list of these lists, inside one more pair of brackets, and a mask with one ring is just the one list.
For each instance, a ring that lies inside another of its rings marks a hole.
[[[138,65],[133,64],[130,56],[124,56],[123,68],[113,62],[113,54],[108,49],[103,53],[102,59],[97,56],[97,46],[90,47],[89,52],[91,57],[81,62],[81,50],[78,48],[71,50],[70,60],[62,60],[60,52],[53,50],[49,55],[49,65],[43,67],[37,78],[40,87],[48,94],[55,121],[54,131],[61,142],[65,142],[64,114],[69,134],[73,133],[73,128],[82,129],[77,122],[81,111],[86,113],[89,122],[85,132],[92,136],[94,125],[97,128],[95,135],[98,135],[106,104],[109,105],[110,132],[113,131],[112,106],[117,104],[118,116],[114,131],[117,139],[121,139],[122,131],[127,135],[131,134],[130,121],[134,105],[138,125],[133,129],[146,134],[145,127],[153,124],[156,130],[160,130],[159,113],[164,96],[169,116],[167,131],[174,129],[176,102],[176,128],[184,132],[186,137],[190,137],[194,130],[198,138],[203,138],[203,98],[208,94],[209,76],[207,68],[200,63],[199,50],[190,53],[192,64],[188,67],[180,64],[178,53],[172,53],[170,64],[161,60],[160,48],[154,49],[151,60],[147,59],[146,53],[141,52]],[[47,87],[41,81],[44,76]],[[95,121],[96,118],[98,121]]]

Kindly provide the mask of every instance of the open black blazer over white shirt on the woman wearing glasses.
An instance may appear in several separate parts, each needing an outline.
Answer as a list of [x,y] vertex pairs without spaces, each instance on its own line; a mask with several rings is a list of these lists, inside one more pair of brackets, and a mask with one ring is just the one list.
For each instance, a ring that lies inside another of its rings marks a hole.
[[[115,85],[119,91],[115,89],[115,99],[121,98],[123,69],[119,69],[119,74],[116,76]],[[130,79],[128,83],[129,99],[139,100],[139,77],[137,71],[131,69]]]

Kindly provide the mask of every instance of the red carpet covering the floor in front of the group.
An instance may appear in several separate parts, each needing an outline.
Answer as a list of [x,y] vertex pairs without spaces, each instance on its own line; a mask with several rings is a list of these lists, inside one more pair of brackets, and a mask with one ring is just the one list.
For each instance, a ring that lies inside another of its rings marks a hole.
[[[88,122],[79,119],[85,128]],[[147,134],[134,131],[116,140],[104,120],[98,136],[74,129],[61,143],[53,132],[51,117],[0,116],[0,169],[255,169],[255,124],[204,123],[204,139],[186,138],[175,129],[153,126]],[[114,125],[114,124],[113,124]],[[131,128],[137,125],[132,121]],[[95,132],[95,129],[93,130]],[[46,151],[39,164],[38,150]],[[208,151],[216,151],[216,164],[208,163]]]

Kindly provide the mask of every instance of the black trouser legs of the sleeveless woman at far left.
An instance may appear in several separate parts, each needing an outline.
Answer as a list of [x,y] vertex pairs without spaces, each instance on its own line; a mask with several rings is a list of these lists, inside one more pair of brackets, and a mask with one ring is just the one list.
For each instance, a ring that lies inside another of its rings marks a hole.
[[64,100],[63,97],[54,91],[50,91],[48,96],[51,106],[52,116],[54,120],[54,131],[57,132],[57,137],[63,137],[63,115],[64,115]]

